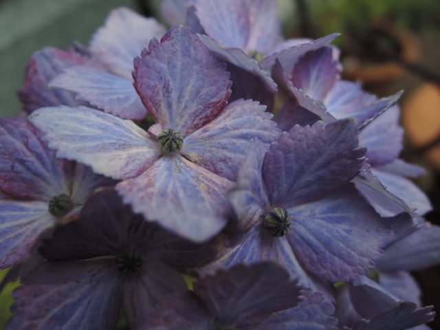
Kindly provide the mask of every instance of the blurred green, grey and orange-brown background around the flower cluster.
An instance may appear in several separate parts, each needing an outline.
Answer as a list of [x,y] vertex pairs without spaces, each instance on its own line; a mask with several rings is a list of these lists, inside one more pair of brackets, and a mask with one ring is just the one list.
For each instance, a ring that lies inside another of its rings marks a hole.
[[[17,90],[30,56],[45,46],[89,45],[109,11],[118,6],[145,16],[160,15],[161,0],[0,0],[0,115],[21,111]],[[399,104],[406,128],[402,157],[426,169],[416,183],[434,211],[426,219],[440,225],[440,1],[438,0],[278,0],[286,38],[340,32],[343,78],[389,96],[404,89]],[[0,279],[5,271],[0,272]],[[423,303],[437,308],[430,323],[440,329],[440,267],[414,273]],[[17,285],[17,283],[15,284]],[[10,317],[8,286],[0,295],[0,329]],[[124,329],[124,325],[120,325]]]

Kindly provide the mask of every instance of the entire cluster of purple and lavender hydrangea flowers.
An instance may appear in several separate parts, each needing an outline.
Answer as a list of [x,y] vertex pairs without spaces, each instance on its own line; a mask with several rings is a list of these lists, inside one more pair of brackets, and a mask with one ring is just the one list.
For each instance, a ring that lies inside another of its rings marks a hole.
[[428,329],[400,94],[342,80],[337,34],[283,40],[276,1],[162,9],[34,54],[0,118],[6,329]]

